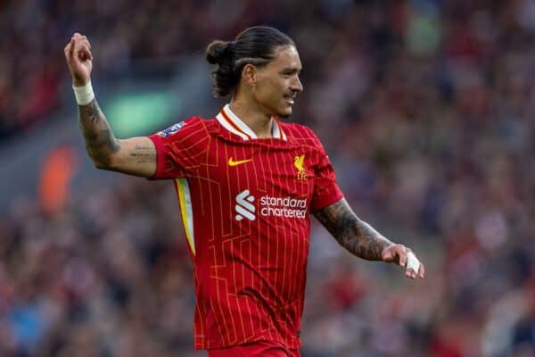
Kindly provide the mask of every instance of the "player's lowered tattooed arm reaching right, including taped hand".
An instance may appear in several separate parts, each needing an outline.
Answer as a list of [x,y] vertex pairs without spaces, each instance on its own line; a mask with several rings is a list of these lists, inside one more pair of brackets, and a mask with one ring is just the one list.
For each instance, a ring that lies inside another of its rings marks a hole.
[[350,253],[368,261],[393,262],[406,267],[407,278],[416,278],[416,275],[424,278],[424,264],[419,264],[418,271],[411,268],[412,264],[407,264],[411,250],[405,245],[392,243],[360,220],[345,199],[317,211],[314,216]]

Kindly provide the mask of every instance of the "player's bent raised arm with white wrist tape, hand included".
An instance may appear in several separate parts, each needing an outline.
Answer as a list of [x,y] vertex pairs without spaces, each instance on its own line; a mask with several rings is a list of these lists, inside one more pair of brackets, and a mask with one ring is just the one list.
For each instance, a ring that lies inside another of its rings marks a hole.
[[129,175],[152,177],[156,171],[156,149],[148,137],[120,140],[96,102],[91,86],[93,55],[87,37],[75,33],[65,46],[65,59],[77,93],[78,120],[87,154],[95,166]]

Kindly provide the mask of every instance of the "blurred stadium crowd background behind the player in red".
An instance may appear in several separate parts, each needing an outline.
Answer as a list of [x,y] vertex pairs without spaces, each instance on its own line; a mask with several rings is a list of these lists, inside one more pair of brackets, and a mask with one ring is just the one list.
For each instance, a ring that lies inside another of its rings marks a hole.
[[314,222],[302,355],[535,355],[535,0],[3,0],[0,356],[206,355],[172,184],[91,165],[62,49],[89,37],[117,137],[147,135],[213,117],[204,47],[258,24],[300,51],[291,120],[427,268]]

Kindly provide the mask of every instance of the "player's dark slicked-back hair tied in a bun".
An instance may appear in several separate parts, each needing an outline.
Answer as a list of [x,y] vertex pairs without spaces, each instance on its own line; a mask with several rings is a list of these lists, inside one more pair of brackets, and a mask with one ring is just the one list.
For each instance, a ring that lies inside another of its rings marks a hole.
[[275,59],[276,47],[289,45],[295,46],[292,38],[268,26],[245,29],[234,41],[212,41],[205,56],[208,62],[217,64],[211,72],[214,94],[225,96],[233,93],[242,78],[245,64],[264,66]]

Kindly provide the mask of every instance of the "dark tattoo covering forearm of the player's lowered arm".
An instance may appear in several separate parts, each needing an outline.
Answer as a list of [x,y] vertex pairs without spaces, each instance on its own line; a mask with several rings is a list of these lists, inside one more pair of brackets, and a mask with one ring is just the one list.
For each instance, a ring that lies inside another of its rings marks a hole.
[[383,249],[393,245],[364,220],[360,220],[345,199],[325,207],[314,215],[340,245],[360,258],[381,261]]

